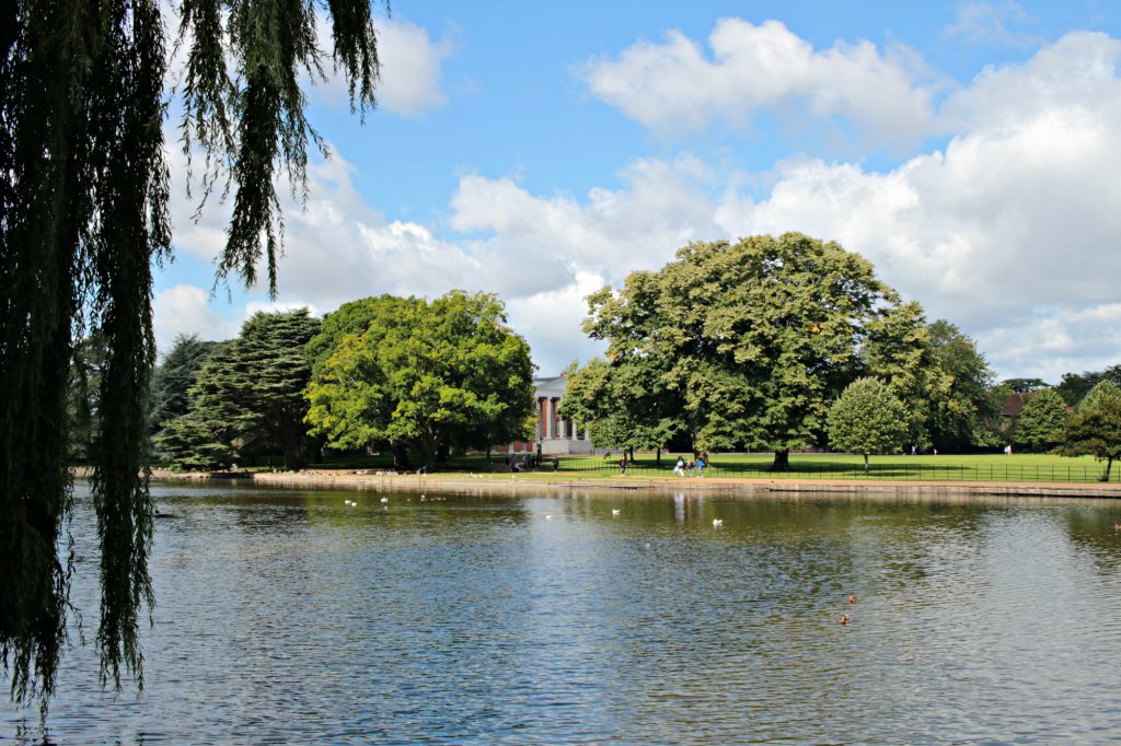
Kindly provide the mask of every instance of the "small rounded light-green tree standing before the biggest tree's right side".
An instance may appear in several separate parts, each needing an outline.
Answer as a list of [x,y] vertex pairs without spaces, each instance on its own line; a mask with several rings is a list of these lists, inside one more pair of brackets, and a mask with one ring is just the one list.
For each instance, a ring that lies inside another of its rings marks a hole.
[[861,454],[864,472],[870,454],[898,451],[907,432],[907,410],[882,381],[858,379],[830,407],[830,445],[834,450]]

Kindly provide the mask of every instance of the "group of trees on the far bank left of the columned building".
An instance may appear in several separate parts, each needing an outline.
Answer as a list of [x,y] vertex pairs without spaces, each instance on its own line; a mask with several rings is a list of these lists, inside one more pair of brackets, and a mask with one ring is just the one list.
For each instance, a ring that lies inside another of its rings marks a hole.
[[[76,402],[95,351],[74,366]],[[155,463],[179,469],[298,469],[324,446],[433,468],[453,450],[528,437],[531,407],[529,345],[497,297],[380,296],[323,319],[258,313],[228,342],[179,336],[152,379],[149,432]],[[95,409],[75,404],[75,423]],[[78,438],[72,453],[83,450]]]

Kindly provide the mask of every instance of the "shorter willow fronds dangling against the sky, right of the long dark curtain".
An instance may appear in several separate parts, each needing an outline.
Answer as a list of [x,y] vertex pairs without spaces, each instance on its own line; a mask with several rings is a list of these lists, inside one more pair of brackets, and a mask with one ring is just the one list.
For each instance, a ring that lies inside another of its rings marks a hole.
[[[377,35],[369,2],[332,0],[335,68],[346,77],[351,110],[364,116],[376,104],[380,75]],[[216,44],[214,35],[223,35]],[[205,37],[200,40],[200,37]],[[315,24],[307,0],[185,0],[179,45],[188,45],[184,72],[183,146],[204,153],[205,201],[217,184],[233,193],[226,244],[217,277],[257,282],[266,259],[269,295],[276,296],[276,267],[284,221],[276,181],[284,171],[294,194],[306,198],[307,150],[326,147],[305,115],[300,76],[324,78]],[[237,65],[231,73],[226,54]],[[223,180],[224,178],[224,180]]]

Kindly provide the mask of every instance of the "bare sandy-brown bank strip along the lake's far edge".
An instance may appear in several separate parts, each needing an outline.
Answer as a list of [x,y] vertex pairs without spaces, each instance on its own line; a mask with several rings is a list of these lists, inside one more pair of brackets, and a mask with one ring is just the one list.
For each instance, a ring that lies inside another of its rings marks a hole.
[[[75,476],[85,476],[75,469]],[[1069,497],[1121,500],[1121,484],[1115,483],[1054,483],[1054,482],[898,482],[856,479],[798,479],[731,478],[731,477],[603,477],[565,478],[559,474],[547,476],[516,476],[498,474],[392,474],[369,470],[339,472],[306,469],[304,472],[234,472],[182,473],[152,470],[154,481],[237,479],[254,485],[291,488],[330,488],[395,492],[479,491],[499,492],[541,491],[613,491],[663,492],[667,494],[720,494],[726,496],[762,497],[787,493],[815,496],[868,497]]]

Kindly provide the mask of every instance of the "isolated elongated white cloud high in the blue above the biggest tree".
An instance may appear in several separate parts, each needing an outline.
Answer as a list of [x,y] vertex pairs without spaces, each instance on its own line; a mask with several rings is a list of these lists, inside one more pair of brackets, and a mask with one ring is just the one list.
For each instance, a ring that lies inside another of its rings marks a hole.
[[909,144],[932,119],[932,93],[906,50],[883,54],[870,41],[815,50],[781,22],[736,18],[716,24],[712,58],[679,31],[664,44],[640,41],[617,59],[586,64],[592,93],[657,131],[703,130],[715,120],[747,127],[763,109],[843,118],[869,143]]

